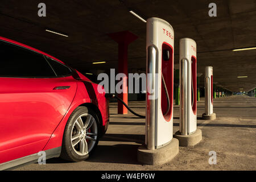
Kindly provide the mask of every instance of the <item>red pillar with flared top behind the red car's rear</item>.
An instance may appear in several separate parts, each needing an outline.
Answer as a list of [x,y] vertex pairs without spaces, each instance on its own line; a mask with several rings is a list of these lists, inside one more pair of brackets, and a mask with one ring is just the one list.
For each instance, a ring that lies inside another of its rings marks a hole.
[[[138,36],[134,35],[129,31],[115,32],[109,34],[115,42],[118,43],[118,73],[125,73],[125,77],[122,77],[122,85],[124,86],[123,91],[125,93],[118,94],[118,97],[121,98],[126,104],[128,104],[128,88],[127,88],[127,76],[128,76],[128,65],[127,65],[127,56],[128,56],[128,45],[136,40]],[[127,114],[127,108],[121,103],[118,102],[118,114]]]

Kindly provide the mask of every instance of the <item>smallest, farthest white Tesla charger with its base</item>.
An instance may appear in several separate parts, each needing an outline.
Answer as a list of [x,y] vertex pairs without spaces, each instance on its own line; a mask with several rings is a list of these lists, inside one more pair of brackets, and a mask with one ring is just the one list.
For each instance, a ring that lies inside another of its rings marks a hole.
[[205,87],[205,113],[203,119],[212,120],[216,118],[216,114],[213,113],[213,68],[205,67],[204,77]]

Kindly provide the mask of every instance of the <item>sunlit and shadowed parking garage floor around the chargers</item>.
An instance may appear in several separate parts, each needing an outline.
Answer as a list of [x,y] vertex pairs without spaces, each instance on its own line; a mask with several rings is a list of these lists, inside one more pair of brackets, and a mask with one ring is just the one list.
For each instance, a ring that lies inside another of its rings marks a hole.
[[[117,114],[110,104],[110,125],[95,153],[84,162],[55,158],[46,165],[30,164],[15,170],[256,170],[256,98],[231,96],[214,99],[216,120],[204,121],[204,98],[197,102],[197,126],[203,140],[195,147],[179,147],[179,154],[162,166],[137,162],[137,148],[144,142],[144,119]],[[145,102],[129,102],[144,114]],[[179,106],[174,106],[174,133],[179,130]],[[209,151],[216,151],[217,164],[210,165]]]

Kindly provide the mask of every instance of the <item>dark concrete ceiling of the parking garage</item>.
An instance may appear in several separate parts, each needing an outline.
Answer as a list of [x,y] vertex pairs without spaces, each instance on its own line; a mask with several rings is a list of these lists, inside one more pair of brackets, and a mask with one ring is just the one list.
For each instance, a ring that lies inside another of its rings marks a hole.
[[[208,16],[212,1],[43,1],[46,17],[38,16],[42,1],[2,0],[0,36],[28,44],[55,56],[81,72],[117,68],[118,46],[107,34],[129,30],[139,36],[129,46],[129,69],[146,69],[146,23],[129,13],[133,9],[147,19],[167,20],[175,30],[175,64],[179,63],[179,39],[197,43],[197,72],[201,86],[204,67],[212,66],[214,82],[228,90],[256,88],[256,2],[214,1],[217,17]],[[68,34],[68,38],[46,32]],[[93,65],[93,61],[107,64]],[[237,76],[248,76],[237,78]]]

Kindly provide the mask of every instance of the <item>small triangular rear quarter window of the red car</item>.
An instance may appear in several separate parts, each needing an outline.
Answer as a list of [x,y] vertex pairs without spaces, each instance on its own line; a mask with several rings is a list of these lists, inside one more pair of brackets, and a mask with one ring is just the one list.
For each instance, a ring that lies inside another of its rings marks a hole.
[[72,71],[64,64],[61,64],[59,61],[51,59],[50,57],[46,56],[47,61],[51,64],[52,69],[55,71],[58,77],[65,77],[71,75]]

